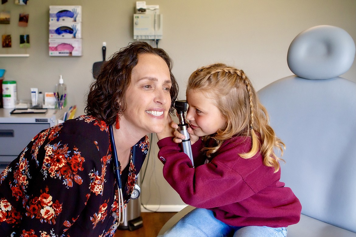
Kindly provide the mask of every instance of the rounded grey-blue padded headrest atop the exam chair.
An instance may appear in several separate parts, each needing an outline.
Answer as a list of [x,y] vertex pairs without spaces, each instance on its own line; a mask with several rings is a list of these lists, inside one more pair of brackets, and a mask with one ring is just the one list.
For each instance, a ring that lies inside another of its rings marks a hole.
[[297,35],[288,49],[289,69],[305,79],[330,79],[347,72],[355,58],[349,33],[335,26],[315,26]]

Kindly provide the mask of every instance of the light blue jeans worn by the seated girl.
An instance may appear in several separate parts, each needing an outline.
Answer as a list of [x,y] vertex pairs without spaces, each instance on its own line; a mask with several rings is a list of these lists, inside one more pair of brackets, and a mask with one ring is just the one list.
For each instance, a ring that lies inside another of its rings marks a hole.
[[286,237],[287,228],[267,226],[236,227],[225,224],[214,217],[213,211],[196,208],[189,212],[163,237]]

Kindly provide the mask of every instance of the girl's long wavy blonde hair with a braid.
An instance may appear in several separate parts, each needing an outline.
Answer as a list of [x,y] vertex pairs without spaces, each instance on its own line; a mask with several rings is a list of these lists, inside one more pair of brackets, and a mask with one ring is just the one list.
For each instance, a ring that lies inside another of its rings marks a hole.
[[205,92],[214,98],[215,106],[226,119],[223,129],[203,137],[205,144],[210,138],[215,141],[213,146],[204,147],[206,156],[211,157],[225,140],[233,136],[250,136],[251,150],[239,156],[248,159],[260,150],[263,164],[274,167],[274,172],[279,170],[278,160],[282,159],[277,157],[274,148],[279,149],[282,156],[285,145],[269,126],[267,110],[244,71],[222,63],[198,68],[188,80],[187,93],[192,90]]

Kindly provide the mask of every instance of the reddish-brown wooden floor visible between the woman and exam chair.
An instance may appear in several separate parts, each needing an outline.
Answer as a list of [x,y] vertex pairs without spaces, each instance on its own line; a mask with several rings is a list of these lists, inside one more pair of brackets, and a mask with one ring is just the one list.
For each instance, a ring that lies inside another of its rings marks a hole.
[[115,237],[156,237],[162,226],[177,212],[141,212],[143,227],[135,231],[117,230]]

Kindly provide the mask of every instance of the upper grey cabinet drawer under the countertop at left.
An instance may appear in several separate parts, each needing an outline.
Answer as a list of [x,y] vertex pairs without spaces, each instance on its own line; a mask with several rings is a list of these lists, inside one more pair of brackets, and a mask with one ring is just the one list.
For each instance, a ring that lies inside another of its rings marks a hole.
[[1,156],[17,157],[34,136],[47,128],[49,123],[1,123],[0,162]]

